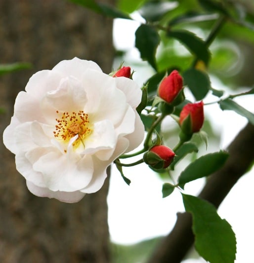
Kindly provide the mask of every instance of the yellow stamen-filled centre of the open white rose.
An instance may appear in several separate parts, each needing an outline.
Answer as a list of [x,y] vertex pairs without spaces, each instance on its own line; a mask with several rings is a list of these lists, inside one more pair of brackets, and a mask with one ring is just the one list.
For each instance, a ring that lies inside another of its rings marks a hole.
[[[59,113],[56,111],[56,113]],[[84,140],[91,133],[91,125],[89,124],[88,114],[84,111],[78,113],[64,112],[59,119],[55,119],[57,124],[55,125],[54,137],[61,142],[68,143],[71,138],[78,135],[77,140],[73,142],[73,146],[78,148],[82,143],[85,148]]]

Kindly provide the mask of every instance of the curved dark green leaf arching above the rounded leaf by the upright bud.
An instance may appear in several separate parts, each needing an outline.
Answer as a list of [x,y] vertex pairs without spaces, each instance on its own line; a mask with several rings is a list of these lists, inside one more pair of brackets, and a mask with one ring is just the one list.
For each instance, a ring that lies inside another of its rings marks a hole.
[[192,54],[208,65],[211,54],[201,38],[186,30],[169,31],[168,37],[179,40]]

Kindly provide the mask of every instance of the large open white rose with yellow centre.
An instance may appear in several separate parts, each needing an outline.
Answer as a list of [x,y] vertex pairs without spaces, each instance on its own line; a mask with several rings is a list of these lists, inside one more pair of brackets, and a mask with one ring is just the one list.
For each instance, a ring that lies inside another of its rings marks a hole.
[[37,196],[78,202],[98,191],[106,168],[143,140],[141,90],[92,62],[64,60],[37,72],[16,98],[3,143]]

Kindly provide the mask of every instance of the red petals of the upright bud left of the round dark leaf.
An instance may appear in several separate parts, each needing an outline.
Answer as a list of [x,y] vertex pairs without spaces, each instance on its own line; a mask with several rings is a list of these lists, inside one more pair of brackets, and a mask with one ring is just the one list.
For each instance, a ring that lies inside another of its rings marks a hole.
[[182,90],[183,80],[178,71],[174,70],[160,83],[158,94],[167,103],[171,103]]

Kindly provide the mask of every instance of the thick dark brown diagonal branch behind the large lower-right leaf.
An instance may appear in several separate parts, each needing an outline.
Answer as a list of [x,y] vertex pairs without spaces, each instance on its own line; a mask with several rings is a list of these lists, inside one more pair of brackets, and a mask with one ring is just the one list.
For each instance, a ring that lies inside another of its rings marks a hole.
[[[254,162],[254,126],[247,126],[228,147],[229,158],[225,165],[215,172],[199,194],[218,207],[230,189],[236,184]],[[147,263],[180,263],[194,242],[191,230],[192,218],[188,213],[178,213],[177,221]]]

